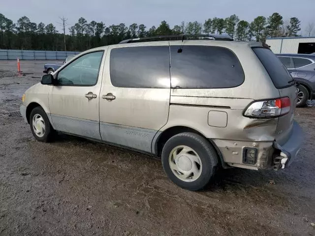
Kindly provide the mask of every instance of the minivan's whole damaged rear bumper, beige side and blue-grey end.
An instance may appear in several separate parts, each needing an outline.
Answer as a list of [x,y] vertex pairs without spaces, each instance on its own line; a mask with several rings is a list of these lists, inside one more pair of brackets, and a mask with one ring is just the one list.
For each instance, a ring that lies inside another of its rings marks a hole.
[[303,131],[297,122],[285,144],[273,142],[235,141],[213,139],[221,151],[223,161],[232,167],[252,170],[284,169],[298,154],[303,140]]

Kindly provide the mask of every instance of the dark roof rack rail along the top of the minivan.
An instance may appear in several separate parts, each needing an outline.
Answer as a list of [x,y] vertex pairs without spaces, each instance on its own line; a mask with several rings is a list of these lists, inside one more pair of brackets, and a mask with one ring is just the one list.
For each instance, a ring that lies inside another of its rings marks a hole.
[[233,38],[225,34],[178,34],[178,35],[158,35],[144,38],[131,38],[126,39],[119,44],[123,43],[139,43],[139,42],[151,42],[151,41],[170,41],[170,40],[220,40],[220,41],[233,41]]

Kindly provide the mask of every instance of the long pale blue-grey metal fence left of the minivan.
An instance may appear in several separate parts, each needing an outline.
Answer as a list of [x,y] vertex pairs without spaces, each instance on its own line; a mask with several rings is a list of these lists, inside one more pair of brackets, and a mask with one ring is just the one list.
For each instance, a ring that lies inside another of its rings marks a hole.
[[67,56],[80,52],[64,51],[32,51],[32,50],[3,50],[0,49],[0,60],[64,60]]

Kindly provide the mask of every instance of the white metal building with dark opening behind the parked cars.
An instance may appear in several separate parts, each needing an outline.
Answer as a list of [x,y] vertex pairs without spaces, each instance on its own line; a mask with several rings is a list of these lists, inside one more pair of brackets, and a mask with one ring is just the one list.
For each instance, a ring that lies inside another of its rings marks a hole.
[[315,37],[267,38],[266,43],[277,54],[315,53]]

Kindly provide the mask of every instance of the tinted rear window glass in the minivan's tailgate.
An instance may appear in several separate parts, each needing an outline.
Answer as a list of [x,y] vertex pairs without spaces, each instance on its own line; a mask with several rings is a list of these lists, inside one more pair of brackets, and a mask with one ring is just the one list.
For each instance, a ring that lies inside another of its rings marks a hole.
[[272,82],[277,89],[290,87],[289,81],[292,80],[289,72],[284,64],[274,53],[267,48],[253,48],[254,53],[257,55],[266,71],[268,72]]

